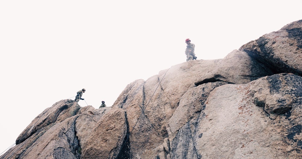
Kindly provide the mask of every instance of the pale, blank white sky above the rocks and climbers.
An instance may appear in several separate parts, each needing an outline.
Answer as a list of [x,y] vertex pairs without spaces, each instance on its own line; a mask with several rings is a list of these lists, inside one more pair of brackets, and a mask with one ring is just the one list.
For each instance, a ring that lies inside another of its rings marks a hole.
[[[1,0],[0,153],[44,109],[111,106],[127,84],[234,49],[301,20],[300,0]],[[87,106],[80,100],[79,105]]]

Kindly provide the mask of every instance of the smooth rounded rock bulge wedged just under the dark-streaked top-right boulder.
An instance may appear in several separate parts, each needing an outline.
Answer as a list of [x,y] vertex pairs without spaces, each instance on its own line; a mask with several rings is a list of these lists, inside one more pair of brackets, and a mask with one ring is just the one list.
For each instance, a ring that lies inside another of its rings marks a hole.
[[249,57],[246,52],[233,50],[212,69],[202,74],[195,85],[216,81],[244,84],[272,74],[268,67]]

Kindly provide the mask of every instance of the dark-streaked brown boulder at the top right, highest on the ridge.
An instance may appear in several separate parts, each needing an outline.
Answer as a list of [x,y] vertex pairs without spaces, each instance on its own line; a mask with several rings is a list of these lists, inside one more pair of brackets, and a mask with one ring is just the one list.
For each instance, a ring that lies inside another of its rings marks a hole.
[[274,73],[302,75],[302,20],[265,34],[239,49],[271,68]]

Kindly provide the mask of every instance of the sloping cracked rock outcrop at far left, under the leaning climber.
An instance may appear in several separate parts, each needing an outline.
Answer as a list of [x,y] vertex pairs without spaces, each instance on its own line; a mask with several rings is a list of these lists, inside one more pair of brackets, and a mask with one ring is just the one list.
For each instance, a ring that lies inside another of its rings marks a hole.
[[79,159],[81,145],[101,117],[92,106],[81,108],[73,100],[59,101],[36,117],[18,137],[24,141],[2,158]]

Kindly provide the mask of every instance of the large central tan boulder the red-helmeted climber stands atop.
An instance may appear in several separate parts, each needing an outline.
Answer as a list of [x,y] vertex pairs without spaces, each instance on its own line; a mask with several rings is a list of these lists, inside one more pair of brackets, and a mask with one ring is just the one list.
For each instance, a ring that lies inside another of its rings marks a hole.
[[[223,70],[223,64],[239,63],[240,60],[244,64],[233,67],[236,76],[227,76],[225,72],[224,80],[208,81],[216,83],[204,83],[198,87],[194,85],[209,76],[210,73],[206,73],[209,70],[217,72],[217,68]],[[251,64],[253,67],[249,68]],[[245,67],[241,69],[243,65]],[[198,117],[207,95],[214,88],[233,81],[248,83],[266,75],[271,75],[267,67],[252,60],[246,52],[233,51],[223,60],[188,61],[162,70],[146,81],[130,83],[113,104],[113,108],[119,107],[127,112],[131,132],[129,153],[133,158],[169,156],[170,152],[164,150],[165,145],[182,126]]]

